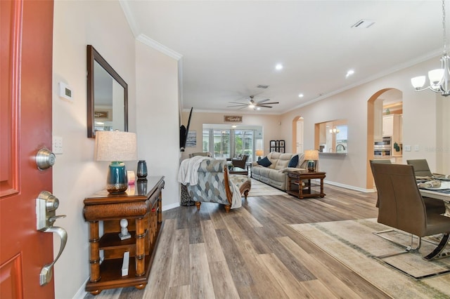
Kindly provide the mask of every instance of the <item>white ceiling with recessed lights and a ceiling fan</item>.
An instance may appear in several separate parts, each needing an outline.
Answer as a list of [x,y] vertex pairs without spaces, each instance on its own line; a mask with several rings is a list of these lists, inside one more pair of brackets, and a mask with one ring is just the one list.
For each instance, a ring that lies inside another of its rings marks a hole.
[[[182,55],[184,108],[197,111],[280,114],[442,53],[442,2],[435,0],[121,5],[136,36]],[[375,24],[352,28],[361,19]],[[354,75],[346,79],[349,69]],[[280,104],[227,107],[250,95]]]

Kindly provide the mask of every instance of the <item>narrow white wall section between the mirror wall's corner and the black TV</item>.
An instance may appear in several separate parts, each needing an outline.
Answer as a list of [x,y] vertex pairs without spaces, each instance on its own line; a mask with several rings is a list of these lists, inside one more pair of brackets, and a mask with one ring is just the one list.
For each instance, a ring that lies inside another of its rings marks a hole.
[[179,206],[178,62],[136,41],[138,157],[165,175],[163,209]]

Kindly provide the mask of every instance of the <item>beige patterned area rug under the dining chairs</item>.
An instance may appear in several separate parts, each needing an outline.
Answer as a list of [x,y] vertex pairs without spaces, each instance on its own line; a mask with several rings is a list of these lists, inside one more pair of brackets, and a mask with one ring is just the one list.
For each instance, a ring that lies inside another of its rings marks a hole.
[[[393,298],[450,298],[450,274],[416,280],[374,256],[402,251],[402,248],[373,232],[389,230],[376,219],[345,220],[290,225],[323,251],[364,277]],[[409,236],[395,232],[392,239],[409,244]],[[423,275],[450,268],[450,258],[428,262],[422,259],[433,244],[422,243],[419,253],[405,253],[384,259],[406,272]],[[449,246],[446,248],[449,249]]]

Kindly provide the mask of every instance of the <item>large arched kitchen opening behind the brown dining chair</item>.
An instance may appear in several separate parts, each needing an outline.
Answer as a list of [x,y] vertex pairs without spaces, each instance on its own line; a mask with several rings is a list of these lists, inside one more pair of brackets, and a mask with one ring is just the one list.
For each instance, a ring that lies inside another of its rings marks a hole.
[[[383,138],[383,117],[387,114],[403,114],[403,93],[397,88],[385,88],[374,93],[367,101],[367,161],[366,189],[373,189],[370,160],[375,158],[374,142]],[[399,128],[402,135],[402,128]],[[401,138],[400,138],[401,140]],[[398,140],[392,140],[398,142]],[[392,156],[388,156],[392,158]],[[386,159],[388,158],[386,157]]]

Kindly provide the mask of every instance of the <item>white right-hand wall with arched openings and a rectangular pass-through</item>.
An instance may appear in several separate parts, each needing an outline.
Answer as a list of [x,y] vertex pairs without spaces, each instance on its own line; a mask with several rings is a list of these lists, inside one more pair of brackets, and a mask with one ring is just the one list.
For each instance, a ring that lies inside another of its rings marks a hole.
[[[439,58],[402,69],[311,105],[294,109],[282,116],[281,133],[287,147],[292,146],[292,121],[304,117],[304,149],[314,148],[314,124],[333,119],[348,120],[347,156],[320,156],[321,171],[326,180],[338,185],[366,189],[367,171],[367,101],[384,88],[397,88],[403,93],[403,145],[419,145],[418,152],[403,152],[406,159],[427,159],[433,171],[450,173],[449,161],[449,99],[432,91],[416,93],[411,77],[427,74],[439,65]],[[437,107],[439,106],[439,113]],[[444,111],[441,113],[441,111]],[[439,126],[437,126],[439,124]],[[445,125],[446,124],[446,125]],[[440,127],[444,127],[440,129]],[[439,160],[438,160],[439,159]]]

